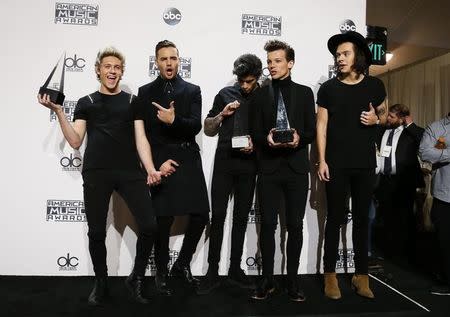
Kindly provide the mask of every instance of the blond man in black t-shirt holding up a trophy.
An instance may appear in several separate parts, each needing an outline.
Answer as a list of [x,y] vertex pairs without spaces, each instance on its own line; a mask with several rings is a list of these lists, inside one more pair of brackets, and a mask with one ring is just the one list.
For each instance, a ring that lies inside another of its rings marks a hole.
[[123,55],[115,48],[98,53],[95,71],[100,89],[78,101],[73,125],[66,119],[61,105],[52,103],[48,95],[38,96],[42,105],[55,111],[64,137],[72,148],[78,149],[88,135],[82,175],[89,252],[95,272],[94,288],[88,299],[93,306],[102,305],[108,295],[106,217],[114,190],[130,207],[139,229],[134,269],[126,279],[126,285],[135,301],[149,303],[143,294],[143,282],[156,220],[148,185],[158,184],[161,175],[155,170],[151,156],[146,155],[142,144],[138,143],[137,150],[147,176],[139,165],[134,139],[136,127],[130,106],[133,96],[119,87],[124,63]]

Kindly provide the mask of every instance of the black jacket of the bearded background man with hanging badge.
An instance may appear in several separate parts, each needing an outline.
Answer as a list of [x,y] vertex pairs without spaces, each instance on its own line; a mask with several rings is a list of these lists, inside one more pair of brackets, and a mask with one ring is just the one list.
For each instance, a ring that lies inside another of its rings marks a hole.
[[[380,129],[377,139],[379,148],[385,131],[385,128]],[[411,123],[403,129],[395,149],[396,175],[401,179],[401,183],[406,186],[415,186],[415,188],[425,186],[419,159],[417,158],[423,132],[422,127]]]

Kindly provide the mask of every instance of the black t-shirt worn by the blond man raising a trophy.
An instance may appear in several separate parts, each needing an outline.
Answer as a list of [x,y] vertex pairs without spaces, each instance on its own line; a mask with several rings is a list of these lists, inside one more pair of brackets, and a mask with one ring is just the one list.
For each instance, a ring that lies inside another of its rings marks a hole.
[[130,101],[131,95],[123,91],[97,91],[78,100],[73,120],[86,120],[88,138],[83,171],[139,168]]

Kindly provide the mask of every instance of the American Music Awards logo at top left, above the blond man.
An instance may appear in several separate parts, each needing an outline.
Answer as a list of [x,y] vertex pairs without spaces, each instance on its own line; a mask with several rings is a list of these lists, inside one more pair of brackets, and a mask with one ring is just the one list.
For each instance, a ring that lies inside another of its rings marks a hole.
[[98,5],[84,3],[55,3],[55,24],[98,24]]

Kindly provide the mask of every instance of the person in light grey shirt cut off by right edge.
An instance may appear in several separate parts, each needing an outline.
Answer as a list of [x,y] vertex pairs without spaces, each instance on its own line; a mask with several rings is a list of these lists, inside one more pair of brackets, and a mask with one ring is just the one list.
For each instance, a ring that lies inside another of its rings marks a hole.
[[423,134],[419,155],[433,164],[431,220],[436,229],[443,281],[433,286],[431,294],[450,295],[450,112],[430,123]]

